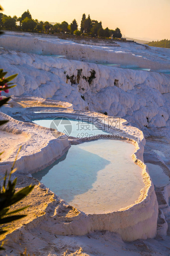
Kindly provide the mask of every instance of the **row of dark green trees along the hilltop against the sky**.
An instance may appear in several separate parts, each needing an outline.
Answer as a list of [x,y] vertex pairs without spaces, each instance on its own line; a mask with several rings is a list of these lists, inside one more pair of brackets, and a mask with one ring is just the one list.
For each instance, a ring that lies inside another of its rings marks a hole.
[[[19,25],[17,25],[19,23]],[[68,24],[68,22],[63,21],[61,23],[51,24],[48,21],[38,21],[37,19],[32,19],[32,16],[27,10],[21,17],[7,16],[0,13],[0,26],[2,29],[6,30],[17,30],[17,31],[29,31],[38,33],[70,33],[76,36],[86,35],[98,38],[121,38],[122,34],[119,28],[115,30],[107,28],[102,28],[102,22],[97,20],[91,20],[90,15],[86,18],[86,14],[82,15],[81,29],[78,30],[78,24],[75,19]]]

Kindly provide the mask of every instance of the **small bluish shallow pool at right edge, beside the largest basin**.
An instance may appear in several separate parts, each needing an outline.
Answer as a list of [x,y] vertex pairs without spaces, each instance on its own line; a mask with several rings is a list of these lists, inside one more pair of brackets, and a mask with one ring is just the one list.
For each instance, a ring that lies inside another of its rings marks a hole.
[[146,163],[149,170],[149,175],[155,186],[162,187],[170,183],[170,178],[163,172],[161,166],[156,164]]

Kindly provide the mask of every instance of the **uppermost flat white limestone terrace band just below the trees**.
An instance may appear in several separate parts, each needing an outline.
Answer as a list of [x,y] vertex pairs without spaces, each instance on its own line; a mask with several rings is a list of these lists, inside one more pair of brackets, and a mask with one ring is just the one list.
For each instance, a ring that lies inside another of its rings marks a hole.
[[36,54],[65,55],[68,59],[139,66],[151,70],[170,71],[170,50],[137,43],[119,42],[118,47],[83,45],[58,38],[41,38],[27,33],[5,32],[0,46]]

